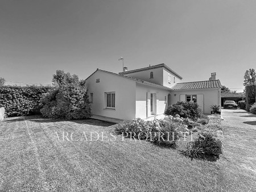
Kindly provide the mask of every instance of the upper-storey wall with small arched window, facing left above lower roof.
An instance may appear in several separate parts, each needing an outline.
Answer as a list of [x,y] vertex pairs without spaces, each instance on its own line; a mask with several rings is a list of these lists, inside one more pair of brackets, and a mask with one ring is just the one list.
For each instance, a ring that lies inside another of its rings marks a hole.
[[[154,78],[150,78],[150,72],[153,72]],[[163,68],[156,68],[152,70],[143,70],[142,72],[135,72],[124,74],[125,76],[138,78],[139,80],[144,80],[151,82],[153,84],[163,85]]]

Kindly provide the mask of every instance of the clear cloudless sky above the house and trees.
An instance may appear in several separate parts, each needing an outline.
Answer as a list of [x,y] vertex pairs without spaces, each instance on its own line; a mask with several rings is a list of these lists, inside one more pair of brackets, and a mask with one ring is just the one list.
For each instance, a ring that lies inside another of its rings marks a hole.
[[164,63],[183,82],[242,91],[256,68],[256,1],[0,0],[0,77],[49,84],[57,69],[85,79]]

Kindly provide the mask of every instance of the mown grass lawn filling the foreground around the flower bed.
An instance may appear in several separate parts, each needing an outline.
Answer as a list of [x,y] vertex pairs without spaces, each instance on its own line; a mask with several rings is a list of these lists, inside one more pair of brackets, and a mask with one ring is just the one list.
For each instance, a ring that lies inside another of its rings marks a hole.
[[[241,146],[236,140],[240,133],[229,129],[224,131],[224,155],[211,162],[191,161],[177,149],[110,135],[114,125],[99,120],[7,118],[0,124],[0,190],[254,190],[256,173],[249,169],[256,164],[255,143]],[[105,132],[104,141],[101,135],[96,141],[96,133],[90,141],[90,132]],[[243,136],[253,139],[256,131]],[[184,146],[184,141],[179,144]],[[245,169],[238,168],[239,161]]]

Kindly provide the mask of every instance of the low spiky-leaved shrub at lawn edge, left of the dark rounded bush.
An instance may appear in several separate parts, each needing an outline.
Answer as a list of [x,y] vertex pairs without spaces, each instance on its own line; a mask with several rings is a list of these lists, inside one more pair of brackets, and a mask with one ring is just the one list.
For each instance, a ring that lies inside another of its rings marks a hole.
[[191,160],[193,160],[193,158],[205,158],[203,148],[196,147],[195,143],[192,141],[187,143],[187,148],[182,150],[181,153],[184,156],[191,158]]

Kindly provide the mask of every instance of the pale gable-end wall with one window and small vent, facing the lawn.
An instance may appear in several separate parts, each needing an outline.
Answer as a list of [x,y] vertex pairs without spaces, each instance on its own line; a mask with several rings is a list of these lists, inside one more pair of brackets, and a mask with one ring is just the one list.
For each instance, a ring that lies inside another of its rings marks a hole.
[[[100,82],[96,83],[96,79]],[[135,118],[136,82],[113,74],[97,71],[86,80],[88,94],[93,93],[92,114],[116,119]],[[107,109],[105,92],[115,91],[115,110]]]

